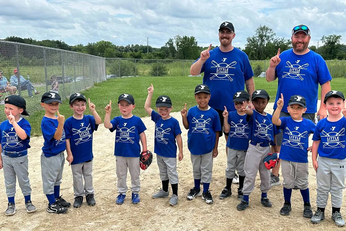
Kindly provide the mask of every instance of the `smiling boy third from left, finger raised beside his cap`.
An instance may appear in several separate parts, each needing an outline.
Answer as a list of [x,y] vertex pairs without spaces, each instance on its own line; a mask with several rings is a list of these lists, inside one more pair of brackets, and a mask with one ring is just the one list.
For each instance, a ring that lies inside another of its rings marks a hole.
[[66,119],[64,124],[66,159],[71,165],[73,176],[73,207],[79,208],[82,206],[84,195],[88,205],[96,204],[92,186],[92,138],[93,132],[101,123],[101,118],[95,110],[95,105],[90,103],[90,99],[88,99],[89,109],[93,115],[84,115],[86,98],[83,94],[72,94],[69,103],[73,116]]

